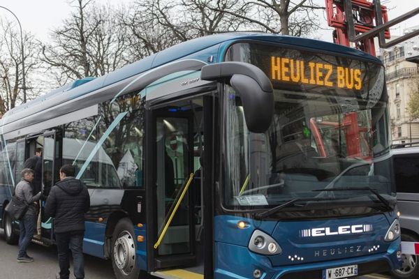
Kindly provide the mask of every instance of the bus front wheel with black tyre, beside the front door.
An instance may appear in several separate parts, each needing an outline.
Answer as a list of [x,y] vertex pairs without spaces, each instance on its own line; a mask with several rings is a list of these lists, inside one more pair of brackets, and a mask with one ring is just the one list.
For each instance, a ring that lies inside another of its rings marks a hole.
[[135,262],[135,234],[128,218],[119,220],[112,234],[112,267],[117,279],[137,279],[140,269]]

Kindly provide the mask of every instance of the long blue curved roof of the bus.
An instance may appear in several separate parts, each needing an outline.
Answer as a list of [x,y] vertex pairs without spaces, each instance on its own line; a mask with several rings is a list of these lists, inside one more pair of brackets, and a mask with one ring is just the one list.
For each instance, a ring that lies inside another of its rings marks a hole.
[[[125,80],[129,77],[133,77],[140,73],[144,73],[147,70],[162,66],[166,63],[178,59],[198,59],[207,62],[207,59],[210,56],[214,56],[214,62],[220,62],[223,57],[217,56],[219,47],[221,45],[230,45],[230,43],[233,43],[237,40],[258,40],[265,41],[267,43],[281,43],[293,47],[305,47],[314,51],[327,51],[334,52],[336,54],[355,56],[359,59],[367,59],[374,63],[381,64],[379,59],[365,52],[334,43],[323,42],[321,40],[267,33],[221,33],[212,36],[196,38],[184,43],[180,43],[178,45],[174,45],[166,50],[157,52],[151,56],[147,56],[145,59],[141,59],[140,61],[126,65],[112,73],[103,75],[102,77],[98,77],[96,79],[88,78],[88,80],[84,80],[83,82],[72,82],[71,84],[66,84],[59,89],[54,89],[53,91],[45,93],[43,96],[40,96],[35,100],[31,100],[28,103],[22,104],[6,112],[6,114],[4,114],[3,118],[1,119],[0,126],[4,126],[7,123],[45,110],[47,107],[45,107],[45,105],[41,105],[41,103],[47,103],[45,100],[50,100],[54,96],[66,93],[67,100],[78,98],[87,93],[96,91],[97,89],[109,86],[110,84],[115,84],[116,82]],[[39,110],[27,110],[28,108],[37,105],[39,105]]]

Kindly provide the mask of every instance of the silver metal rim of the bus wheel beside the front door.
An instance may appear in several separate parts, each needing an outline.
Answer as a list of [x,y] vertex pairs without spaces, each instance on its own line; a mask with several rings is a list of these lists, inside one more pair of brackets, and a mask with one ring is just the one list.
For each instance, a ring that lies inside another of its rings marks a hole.
[[128,276],[135,264],[135,243],[129,232],[124,231],[119,234],[117,241],[115,241],[113,253],[114,262],[119,271]]

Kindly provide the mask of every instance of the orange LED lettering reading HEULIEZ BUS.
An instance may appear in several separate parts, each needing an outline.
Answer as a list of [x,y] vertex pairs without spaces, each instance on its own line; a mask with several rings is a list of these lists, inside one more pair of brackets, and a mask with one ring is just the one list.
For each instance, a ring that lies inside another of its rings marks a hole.
[[362,70],[360,68],[281,56],[271,56],[270,65],[270,78],[273,82],[318,85],[339,89],[362,89]]

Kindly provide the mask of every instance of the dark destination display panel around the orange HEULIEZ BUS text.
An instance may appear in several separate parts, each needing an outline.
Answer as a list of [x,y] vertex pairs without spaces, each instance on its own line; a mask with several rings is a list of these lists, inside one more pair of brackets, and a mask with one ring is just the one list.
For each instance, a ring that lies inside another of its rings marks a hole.
[[[380,100],[384,69],[379,61],[353,52],[299,50],[284,45],[237,43],[230,47],[226,61],[251,63],[263,70],[274,89],[301,96],[313,93],[327,96],[353,96]],[[372,105],[374,102],[370,102]]]

